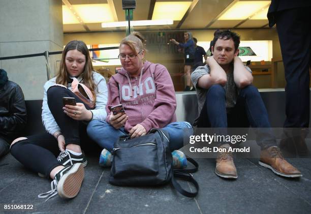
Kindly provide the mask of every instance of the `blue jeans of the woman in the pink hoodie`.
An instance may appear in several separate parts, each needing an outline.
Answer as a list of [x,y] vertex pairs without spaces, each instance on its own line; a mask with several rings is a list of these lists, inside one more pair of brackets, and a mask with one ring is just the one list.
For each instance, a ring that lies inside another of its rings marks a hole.
[[[164,127],[163,130],[169,133],[171,151],[181,148],[183,140],[189,139],[193,134],[192,126],[188,122],[174,122]],[[112,151],[114,142],[128,132],[123,127],[115,129],[106,121],[92,120],[87,126],[87,134],[102,148]]]

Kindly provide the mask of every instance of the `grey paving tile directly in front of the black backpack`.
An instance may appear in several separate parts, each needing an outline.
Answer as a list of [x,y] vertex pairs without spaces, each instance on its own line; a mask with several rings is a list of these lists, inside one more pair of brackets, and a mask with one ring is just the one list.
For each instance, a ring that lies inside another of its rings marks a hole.
[[[108,182],[109,170],[92,197],[86,213],[200,213],[195,199],[177,193],[169,184],[159,187],[116,187]],[[183,187],[186,184],[183,182]]]

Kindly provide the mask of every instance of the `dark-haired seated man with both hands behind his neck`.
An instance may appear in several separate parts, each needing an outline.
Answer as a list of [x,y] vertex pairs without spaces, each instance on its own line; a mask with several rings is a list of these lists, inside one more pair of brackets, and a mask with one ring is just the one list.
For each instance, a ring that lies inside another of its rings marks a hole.
[[[256,139],[261,147],[259,164],[281,176],[301,177],[300,171],[283,158],[276,146],[266,107],[258,89],[252,85],[252,71],[238,57],[239,44],[240,37],[231,30],[215,31],[211,46],[213,56],[191,75],[199,109],[194,126],[218,128],[214,129],[215,134],[226,136],[228,127],[251,125],[257,128]],[[229,151],[231,145],[220,143],[223,151],[217,154],[215,174],[237,178],[233,154]]]

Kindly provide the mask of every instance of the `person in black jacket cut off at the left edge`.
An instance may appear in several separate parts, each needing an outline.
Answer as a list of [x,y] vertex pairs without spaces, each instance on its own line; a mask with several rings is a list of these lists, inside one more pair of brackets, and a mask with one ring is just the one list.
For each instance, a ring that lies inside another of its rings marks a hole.
[[8,154],[10,144],[27,121],[24,95],[18,84],[9,81],[0,69],[0,158]]

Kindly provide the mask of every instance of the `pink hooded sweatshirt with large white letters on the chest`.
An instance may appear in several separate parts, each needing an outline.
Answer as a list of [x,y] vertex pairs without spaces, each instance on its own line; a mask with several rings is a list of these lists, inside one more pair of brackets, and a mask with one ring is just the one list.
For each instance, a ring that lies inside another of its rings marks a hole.
[[128,132],[137,124],[148,132],[152,128],[163,128],[175,122],[176,97],[168,70],[163,65],[146,61],[140,76],[131,78],[122,68],[108,82],[108,123],[110,107],[118,104],[123,105],[129,116],[125,125]]

